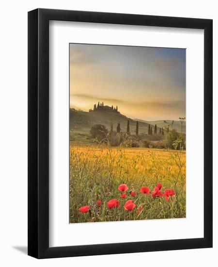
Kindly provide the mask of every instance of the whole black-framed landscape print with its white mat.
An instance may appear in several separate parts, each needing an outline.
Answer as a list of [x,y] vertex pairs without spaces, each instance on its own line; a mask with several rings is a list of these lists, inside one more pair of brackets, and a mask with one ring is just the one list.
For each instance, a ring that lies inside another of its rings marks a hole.
[[28,254],[212,247],[212,20],[28,13]]

